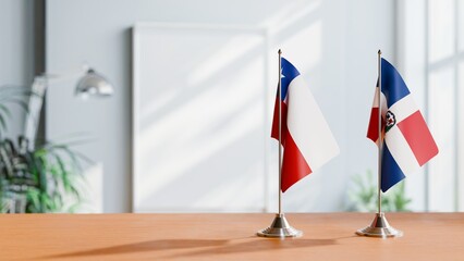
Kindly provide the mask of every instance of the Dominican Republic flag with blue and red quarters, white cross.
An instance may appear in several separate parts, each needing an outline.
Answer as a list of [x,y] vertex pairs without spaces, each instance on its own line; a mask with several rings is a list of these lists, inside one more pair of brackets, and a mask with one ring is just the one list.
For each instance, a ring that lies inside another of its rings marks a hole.
[[381,189],[384,192],[438,154],[438,147],[403,78],[384,59],[381,59],[381,88],[383,140],[379,140],[378,86],[367,137],[377,145],[383,141]]

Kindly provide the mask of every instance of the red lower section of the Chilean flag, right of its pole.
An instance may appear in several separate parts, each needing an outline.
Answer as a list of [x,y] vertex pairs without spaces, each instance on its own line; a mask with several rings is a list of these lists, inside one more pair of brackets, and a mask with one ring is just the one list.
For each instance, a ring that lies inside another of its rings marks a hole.
[[282,162],[282,192],[312,172],[308,163],[293,140],[292,135],[288,133]]

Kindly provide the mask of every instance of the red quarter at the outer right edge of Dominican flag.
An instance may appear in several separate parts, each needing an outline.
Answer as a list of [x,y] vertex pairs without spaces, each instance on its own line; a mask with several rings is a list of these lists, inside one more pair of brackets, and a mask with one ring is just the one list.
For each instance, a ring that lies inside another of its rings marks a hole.
[[396,125],[403,133],[403,136],[413,150],[419,165],[424,165],[427,161],[438,154],[437,144],[435,142],[420,111],[414,112]]

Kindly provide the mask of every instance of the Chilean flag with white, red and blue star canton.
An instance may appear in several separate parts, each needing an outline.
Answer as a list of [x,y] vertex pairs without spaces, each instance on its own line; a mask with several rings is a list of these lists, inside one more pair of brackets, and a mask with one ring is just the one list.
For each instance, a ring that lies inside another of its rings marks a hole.
[[281,60],[281,97],[277,97],[271,137],[279,140],[282,110],[282,186],[284,192],[339,153],[339,146],[300,72]]

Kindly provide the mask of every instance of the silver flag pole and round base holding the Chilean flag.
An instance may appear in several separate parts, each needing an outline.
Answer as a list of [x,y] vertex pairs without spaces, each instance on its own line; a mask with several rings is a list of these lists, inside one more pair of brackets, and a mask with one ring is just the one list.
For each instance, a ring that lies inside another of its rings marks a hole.
[[300,237],[303,235],[303,232],[293,228],[286,221],[284,214],[282,213],[282,51],[279,49],[279,85],[277,97],[279,99],[279,213],[276,214],[276,217],[272,221],[272,224],[261,229],[257,233],[261,237]]

